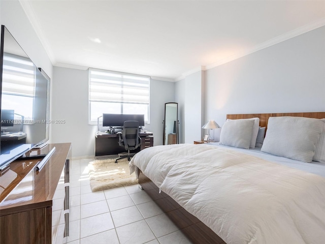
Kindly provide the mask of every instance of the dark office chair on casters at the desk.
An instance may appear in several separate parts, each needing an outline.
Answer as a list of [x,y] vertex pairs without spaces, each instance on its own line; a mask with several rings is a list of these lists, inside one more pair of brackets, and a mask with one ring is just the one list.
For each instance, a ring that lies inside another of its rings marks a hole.
[[122,132],[118,132],[118,143],[120,146],[124,146],[127,150],[127,154],[119,154],[119,158],[117,160],[127,158],[128,161],[131,160],[131,157],[135,155],[135,153],[130,153],[130,150],[137,149],[139,145],[141,145],[142,139],[139,136],[139,121],[127,120],[124,121]]

